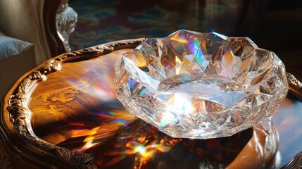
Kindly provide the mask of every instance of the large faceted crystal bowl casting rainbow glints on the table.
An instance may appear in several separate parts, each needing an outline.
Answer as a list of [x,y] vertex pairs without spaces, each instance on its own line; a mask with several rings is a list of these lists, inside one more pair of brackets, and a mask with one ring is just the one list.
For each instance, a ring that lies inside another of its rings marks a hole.
[[288,91],[284,64],[247,37],[179,30],[115,65],[120,102],[171,137],[227,137],[270,118]]

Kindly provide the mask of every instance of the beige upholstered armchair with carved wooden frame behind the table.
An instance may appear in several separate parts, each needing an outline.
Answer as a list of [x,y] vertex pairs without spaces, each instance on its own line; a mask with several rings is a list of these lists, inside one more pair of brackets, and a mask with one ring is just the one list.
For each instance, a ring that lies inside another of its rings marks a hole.
[[68,0],[0,1],[0,99],[20,75],[70,50],[76,22]]

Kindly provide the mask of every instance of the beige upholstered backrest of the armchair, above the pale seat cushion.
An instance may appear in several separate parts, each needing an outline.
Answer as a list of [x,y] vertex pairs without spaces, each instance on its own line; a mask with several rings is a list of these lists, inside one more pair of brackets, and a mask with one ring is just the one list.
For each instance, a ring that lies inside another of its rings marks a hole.
[[0,0],[0,30],[35,46],[36,63],[51,57],[43,21],[44,0]]

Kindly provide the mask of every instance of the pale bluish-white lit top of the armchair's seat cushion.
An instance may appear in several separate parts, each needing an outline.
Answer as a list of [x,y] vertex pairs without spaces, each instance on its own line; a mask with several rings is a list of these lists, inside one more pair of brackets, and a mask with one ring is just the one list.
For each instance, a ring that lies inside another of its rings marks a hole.
[[24,42],[19,39],[12,37],[7,37],[2,32],[0,32],[0,61],[11,56],[16,56],[21,54],[24,49],[30,46],[29,42]]

